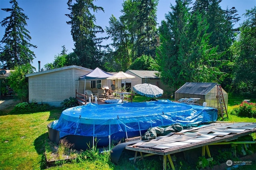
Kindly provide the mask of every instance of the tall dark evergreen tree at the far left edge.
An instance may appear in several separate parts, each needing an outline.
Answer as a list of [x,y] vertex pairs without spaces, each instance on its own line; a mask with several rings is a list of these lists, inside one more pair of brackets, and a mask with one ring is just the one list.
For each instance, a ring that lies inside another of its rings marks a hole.
[[29,43],[30,32],[25,28],[28,16],[22,12],[23,9],[18,6],[16,0],[11,0],[10,3],[12,8],[2,9],[10,12],[10,16],[1,22],[1,26],[6,28],[1,40],[4,47],[0,51],[0,66],[4,69],[14,69],[15,65],[32,63],[35,54],[30,47],[36,48],[36,45]]

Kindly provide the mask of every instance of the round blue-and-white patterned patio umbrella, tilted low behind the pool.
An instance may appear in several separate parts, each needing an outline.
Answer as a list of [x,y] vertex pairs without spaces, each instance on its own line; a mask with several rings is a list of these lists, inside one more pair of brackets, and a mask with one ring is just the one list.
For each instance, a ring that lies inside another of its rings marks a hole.
[[160,97],[164,93],[162,89],[152,84],[137,84],[132,87],[136,93],[146,97]]

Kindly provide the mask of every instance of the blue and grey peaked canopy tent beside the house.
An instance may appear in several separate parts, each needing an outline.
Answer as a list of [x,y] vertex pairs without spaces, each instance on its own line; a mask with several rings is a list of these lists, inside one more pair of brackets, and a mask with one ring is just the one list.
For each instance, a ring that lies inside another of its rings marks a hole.
[[79,77],[79,79],[78,79],[78,89],[79,89],[79,81],[80,80],[84,80],[84,93],[85,93],[86,79],[88,79],[88,80],[97,80],[98,79],[99,80],[99,79],[107,79],[110,76],[112,76],[112,74],[107,73],[106,71],[103,71],[102,69],[97,67],[96,69],[94,69],[90,73],[88,73],[88,74],[86,74],[82,77]]

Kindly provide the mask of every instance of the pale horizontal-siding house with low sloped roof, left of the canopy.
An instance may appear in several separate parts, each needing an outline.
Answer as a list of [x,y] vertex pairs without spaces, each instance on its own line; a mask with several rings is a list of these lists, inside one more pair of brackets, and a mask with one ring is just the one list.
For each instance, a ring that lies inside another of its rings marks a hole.
[[76,97],[79,77],[92,69],[70,65],[27,74],[29,102],[59,106],[64,99]]

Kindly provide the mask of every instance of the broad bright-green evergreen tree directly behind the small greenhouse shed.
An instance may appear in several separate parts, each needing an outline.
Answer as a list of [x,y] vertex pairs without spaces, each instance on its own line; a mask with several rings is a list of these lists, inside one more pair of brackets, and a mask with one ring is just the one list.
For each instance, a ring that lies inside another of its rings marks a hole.
[[176,0],[160,26],[157,51],[161,78],[173,89],[186,82],[220,82],[222,53],[210,45],[209,24],[199,10],[190,12],[190,0]]

